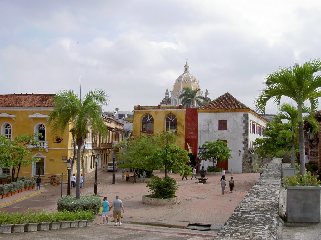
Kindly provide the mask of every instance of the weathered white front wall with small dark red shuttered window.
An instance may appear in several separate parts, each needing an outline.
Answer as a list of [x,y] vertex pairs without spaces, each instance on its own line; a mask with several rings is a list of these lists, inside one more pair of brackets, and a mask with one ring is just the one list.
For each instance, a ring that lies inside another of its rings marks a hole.
[[[243,114],[248,112],[198,113],[198,147],[205,141],[227,140],[233,158],[228,160],[228,170],[242,172],[243,155]],[[227,130],[219,129],[219,120],[227,120]],[[239,155],[241,150],[241,156]],[[202,163],[201,163],[202,164]],[[204,168],[212,161],[204,161]]]

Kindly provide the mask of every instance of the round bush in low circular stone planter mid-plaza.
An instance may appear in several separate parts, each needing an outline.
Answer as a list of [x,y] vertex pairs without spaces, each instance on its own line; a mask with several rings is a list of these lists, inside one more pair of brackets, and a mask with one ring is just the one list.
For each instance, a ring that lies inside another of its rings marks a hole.
[[178,189],[176,179],[169,176],[163,178],[155,176],[146,184],[152,194],[143,196],[143,204],[168,205],[179,203],[179,197],[175,196]]

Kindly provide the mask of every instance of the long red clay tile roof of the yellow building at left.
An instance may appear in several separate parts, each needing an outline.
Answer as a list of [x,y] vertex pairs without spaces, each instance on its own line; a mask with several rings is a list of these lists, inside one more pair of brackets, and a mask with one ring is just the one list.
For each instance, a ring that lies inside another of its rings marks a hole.
[[55,107],[54,94],[4,94],[0,107]]

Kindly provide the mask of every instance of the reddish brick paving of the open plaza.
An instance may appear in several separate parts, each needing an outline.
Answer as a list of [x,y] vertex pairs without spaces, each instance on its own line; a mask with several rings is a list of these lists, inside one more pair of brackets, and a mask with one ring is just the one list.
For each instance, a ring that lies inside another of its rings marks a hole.
[[[157,175],[164,176],[164,172],[161,171]],[[231,174],[227,173],[227,180],[230,179],[230,176]],[[230,193],[228,187],[224,195],[221,195],[220,175],[206,175],[210,182],[209,184],[197,184],[195,180],[190,180],[189,178],[188,180],[181,180],[178,174],[172,174],[172,177],[179,182],[176,195],[180,197],[181,202],[175,205],[155,206],[143,204],[142,196],[149,194],[149,188],[143,182],[137,182],[137,184],[126,182],[126,179],[121,179],[119,171],[116,172],[115,185],[111,184],[112,172],[101,171],[98,173],[98,195],[101,199],[107,196],[108,201],[113,201],[116,195],[120,196],[125,207],[122,219],[124,223],[177,227],[185,227],[195,223],[219,228],[230,218],[235,207],[256,183],[260,174],[234,173],[234,191]],[[93,194],[93,182],[94,176],[87,176],[85,186],[81,189],[81,194]],[[75,195],[75,192],[75,189],[71,189],[72,195]],[[64,184],[63,195],[66,195],[66,193],[67,187]],[[44,209],[46,212],[56,212],[56,203],[60,197],[61,185],[52,186],[48,183],[43,183],[40,191],[29,190],[1,199],[0,211],[12,213],[16,211],[26,212],[28,209]],[[112,217],[109,218],[109,221],[112,220]],[[95,223],[102,223],[101,216],[96,217]]]

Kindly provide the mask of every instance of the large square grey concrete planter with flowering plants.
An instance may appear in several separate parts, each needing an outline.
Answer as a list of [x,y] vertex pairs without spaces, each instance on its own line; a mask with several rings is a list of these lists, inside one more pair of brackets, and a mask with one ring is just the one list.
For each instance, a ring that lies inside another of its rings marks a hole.
[[[295,167],[299,169],[298,164]],[[288,222],[320,223],[320,191],[321,181],[317,175],[306,174],[290,177],[282,182],[286,193],[286,212]]]

